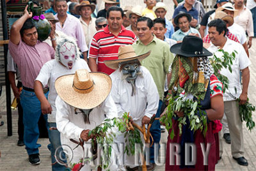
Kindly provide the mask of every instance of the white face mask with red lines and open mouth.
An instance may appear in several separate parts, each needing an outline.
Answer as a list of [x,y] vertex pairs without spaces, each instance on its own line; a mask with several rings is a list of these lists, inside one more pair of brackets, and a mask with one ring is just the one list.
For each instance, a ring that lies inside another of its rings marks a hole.
[[72,69],[76,60],[76,47],[72,43],[65,42],[60,47],[60,62],[69,70]]

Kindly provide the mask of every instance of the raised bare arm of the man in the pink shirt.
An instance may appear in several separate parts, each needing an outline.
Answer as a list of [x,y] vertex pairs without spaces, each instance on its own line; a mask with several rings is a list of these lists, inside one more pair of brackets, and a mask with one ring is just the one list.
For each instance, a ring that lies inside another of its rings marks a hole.
[[24,15],[22,15],[22,17],[20,17],[19,20],[15,21],[11,28],[10,41],[12,41],[12,43],[14,43],[15,45],[18,45],[20,42],[20,39],[21,39],[20,29],[22,28],[24,22],[26,22],[26,20],[32,17],[32,13],[28,13],[27,9],[28,9],[28,5],[24,10]]

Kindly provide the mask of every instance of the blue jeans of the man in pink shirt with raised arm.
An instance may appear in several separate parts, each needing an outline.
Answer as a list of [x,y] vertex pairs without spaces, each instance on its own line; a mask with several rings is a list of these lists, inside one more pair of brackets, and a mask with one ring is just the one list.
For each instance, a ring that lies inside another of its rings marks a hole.
[[[48,92],[44,94],[47,98]],[[20,104],[23,108],[23,124],[24,124],[24,144],[28,155],[39,153],[38,148],[41,144],[37,144],[39,137],[38,121],[41,115],[41,103],[36,97],[35,92],[22,89],[20,94]],[[47,123],[47,115],[44,115]]]

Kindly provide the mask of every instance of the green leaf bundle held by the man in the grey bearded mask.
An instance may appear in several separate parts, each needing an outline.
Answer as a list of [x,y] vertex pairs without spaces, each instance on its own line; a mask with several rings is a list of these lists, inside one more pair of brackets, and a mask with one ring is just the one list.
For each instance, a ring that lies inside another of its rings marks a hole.
[[[127,112],[123,114],[123,119],[125,125],[128,127],[130,117]],[[134,155],[135,154],[135,144],[140,144],[140,147],[143,147],[141,136],[140,136],[140,131],[138,128],[134,127],[132,130],[126,130],[125,134],[125,150],[126,154],[129,155]],[[139,148],[141,150],[141,148]],[[140,151],[141,152],[141,151]]]

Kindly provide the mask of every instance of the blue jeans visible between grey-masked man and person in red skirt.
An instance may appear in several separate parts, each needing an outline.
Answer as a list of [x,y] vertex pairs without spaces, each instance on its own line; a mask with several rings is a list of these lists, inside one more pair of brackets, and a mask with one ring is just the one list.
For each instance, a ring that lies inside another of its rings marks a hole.
[[[157,108],[156,117],[160,117],[162,105],[163,105],[163,101],[159,100],[159,105],[158,105],[158,108]],[[152,126],[150,128],[150,133],[151,133],[151,135],[154,139],[154,144],[152,145],[152,147],[150,147],[150,163],[155,163],[154,147],[155,147],[155,143],[159,144],[160,139],[161,139],[161,128],[160,128],[159,120],[154,121],[154,123],[152,124]],[[151,138],[150,138],[150,144],[151,143],[152,143],[152,141],[151,141]]]

